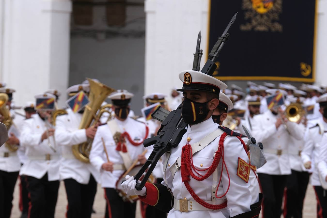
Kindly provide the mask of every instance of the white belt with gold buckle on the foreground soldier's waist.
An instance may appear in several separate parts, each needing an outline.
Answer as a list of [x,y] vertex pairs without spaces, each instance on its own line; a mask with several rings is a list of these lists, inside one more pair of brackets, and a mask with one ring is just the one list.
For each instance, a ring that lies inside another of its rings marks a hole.
[[[225,200],[216,200],[216,204],[222,204],[226,201]],[[213,204],[212,201],[205,201],[208,204]],[[200,205],[198,202],[196,202],[195,200],[187,200],[187,199],[181,199],[178,200],[175,198],[174,200],[174,208],[175,210],[179,210],[181,212],[188,212],[188,211],[196,211],[196,210],[212,210],[212,209],[208,209],[203,207],[202,205]],[[205,217],[203,217],[205,218]]]

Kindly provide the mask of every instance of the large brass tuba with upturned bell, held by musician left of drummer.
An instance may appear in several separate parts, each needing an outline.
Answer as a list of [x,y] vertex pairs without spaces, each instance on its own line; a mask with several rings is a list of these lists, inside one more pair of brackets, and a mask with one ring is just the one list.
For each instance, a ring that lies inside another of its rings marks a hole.
[[[108,97],[108,95],[115,91],[114,89],[100,82],[96,82],[93,79],[87,78],[87,80],[89,80],[90,83],[90,93],[89,93],[90,102],[88,105],[85,106],[82,120],[81,123],[79,124],[78,129],[88,128],[92,124],[92,121],[94,119],[98,120],[101,117],[102,113],[109,112],[105,110],[104,107],[104,106],[109,107],[108,105],[104,105],[102,108],[100,107],[102,102]],[[96,116],[95,114],[99,109],[101,112],[99,112],[98,116]],[[94,124],[95,123],[96,121],[94,122]],[[85,143],[73,145],[72,151],[74,156],[82,162],[89,163],[90,162],[89,154],[90,154],[92,142],[93,140],[88,139]]]

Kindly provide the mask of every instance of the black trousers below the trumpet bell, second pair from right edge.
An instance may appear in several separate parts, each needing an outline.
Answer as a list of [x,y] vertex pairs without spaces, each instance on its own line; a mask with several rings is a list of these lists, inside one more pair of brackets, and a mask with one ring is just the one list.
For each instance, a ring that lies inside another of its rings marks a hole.
[[309,173],[292,170],[287,176],[284,198],[284,217],[301,218],[305,192],[309,183]]

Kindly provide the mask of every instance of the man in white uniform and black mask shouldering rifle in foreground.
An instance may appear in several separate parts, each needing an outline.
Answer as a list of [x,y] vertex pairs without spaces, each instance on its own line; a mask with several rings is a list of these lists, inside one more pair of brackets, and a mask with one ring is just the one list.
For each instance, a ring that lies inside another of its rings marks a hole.
[[226,84],[191,70],[179,77],[184,83],[179,90],[184,96],[181,114],[188,127],[179,145],[163,157],[165,180],[162,184],[146,183],[137,191],[134,177],[126,176],[124,191],[169,211],[168,218],[255,217],[260,209],[250,209],[247,152],[237,137],[219,129],[211,118],[219,104],[219,91],[226,89]]

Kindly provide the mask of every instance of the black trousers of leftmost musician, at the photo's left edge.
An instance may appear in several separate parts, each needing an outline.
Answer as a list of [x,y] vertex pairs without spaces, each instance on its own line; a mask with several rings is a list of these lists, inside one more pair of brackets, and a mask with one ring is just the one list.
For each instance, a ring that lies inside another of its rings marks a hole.
[[2,218],[10,217],[18,173],[0,170],[0,217]]

